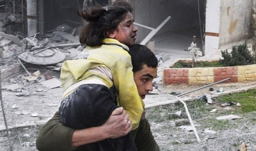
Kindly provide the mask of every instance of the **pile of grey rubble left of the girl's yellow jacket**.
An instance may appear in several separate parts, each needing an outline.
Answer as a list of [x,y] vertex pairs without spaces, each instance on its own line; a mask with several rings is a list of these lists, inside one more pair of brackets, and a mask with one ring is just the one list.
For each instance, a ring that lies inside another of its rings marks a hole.
[[38,33],[20,39],[0,32],[2,79],[20,71],[26,71],[30,75],[30,71],[26,69],[30,64],[59,70],[63,61],[77,56],[84,47],[80,45],[77,36],[64,32],[62,27],[67,28],[59,26],[59,30],[46,34],[44,39],[40,39]]

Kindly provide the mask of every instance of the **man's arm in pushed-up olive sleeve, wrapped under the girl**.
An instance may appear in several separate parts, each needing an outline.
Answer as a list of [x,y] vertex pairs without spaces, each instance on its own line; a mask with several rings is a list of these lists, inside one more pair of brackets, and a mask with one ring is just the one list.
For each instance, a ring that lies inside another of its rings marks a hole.
[[39,150],[74,150],[84,144],[118,138],[126,135],[132,126],[127,123],[129,115],[123,108],[115,109],[105,124],[83,130],[64,126],[59,120],[59,112],[50,119],[39,133],[36,147]]

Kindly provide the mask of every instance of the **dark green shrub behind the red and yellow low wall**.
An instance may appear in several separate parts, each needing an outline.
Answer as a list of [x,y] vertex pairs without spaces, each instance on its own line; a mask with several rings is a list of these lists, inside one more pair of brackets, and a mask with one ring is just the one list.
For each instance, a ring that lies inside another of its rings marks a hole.
[[231,53],[221,50],[221,55],[223,59],[220,63],[224,66],[252,65],[256,60],[255,56],[250,54],[246,43],[233,46]]

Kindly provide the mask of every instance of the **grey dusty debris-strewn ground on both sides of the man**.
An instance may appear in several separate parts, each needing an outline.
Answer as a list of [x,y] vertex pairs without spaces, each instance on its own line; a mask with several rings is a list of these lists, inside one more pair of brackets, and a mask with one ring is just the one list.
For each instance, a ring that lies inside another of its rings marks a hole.
[[[53,72],[53,78],[58,79],[59,72]],[[61,102],[62,88],[49,89],[40,84],[43,81],[43,76],[36,82],[28,82],[24,79],[25,73],[20,74],[12,78],[10,83],[2,83],[2,100],[4,106],[4,112],[6,113],[6,119],[9,127],[8,141],[6,131],[1,131],[0,136],[0,150],[8,150],[8,142],[12,142],[14,150],[37,150],[35,147],[35,140],[40,127],[52,117],[57,111],[59,103]],[[20,88],[10,91],[10,85],[18,83]],[[159,89],[159,94],[148,95],[145,99],[146,104],[150,104],[154,100],[154,104],[159,102],[160,104],[166,104],[164,102],[176,102],[175,96],[171,95],[171,92],[184,93],[191,90],[200,88],[201,86],[193,85],[169,85],[164,86],[161,83],[156,84]],[[249,88],[256,85],[256,82],[247,83],[235,83],[235,84],[216,84],[209,88],[218,90],[223,88],[225,92],[237,91],[240,88]],[[192,92],[182,98],[196,98],[209,93],[209,88],[204,88],[195,92]],[[186,100],[186,99],[185,99]],[[148,115],[154,114],[154,108],[147,108]],[[2,112],[2,109],[1,109]],[[174,112],[174,111],[173,111]],[[161,113],[158,116],[163,117],[167,113]],[[148,116],[147,115],[147,116]],[[205,115],[205,119],[209,115]],[[252,116],[255,116],[252,115]],[[195,121],[197,119],[194,119]],[[255,141],[256,126],[250,125],[248,129],[237,130],[228,129],[226,131],[218,131],[213,140],[206,139],[211,136],[207,136],[203,130],[198,130],[201,142],[197,142],[193,132],[183,131],[173,126],[172,120],[155,121],[150,120],[152,132],[156,141],[159,143],[161,150],[203,150],[203,147],[208,147],[209,150],[233,150],[232,143],[224,144],[223,140],[230,141],[234,137],[237,138],[236,142],[242,141],[246,136],[247,142]],[[246,125],[245,125],[246,126]],[[19,127],[13,129],[13,127]],[[0,114],[0,128],[5,129],[3,114]],[[226,148],[225,148],[226,147]],[[256,150],[255,143],[249,143],[248,150]]]

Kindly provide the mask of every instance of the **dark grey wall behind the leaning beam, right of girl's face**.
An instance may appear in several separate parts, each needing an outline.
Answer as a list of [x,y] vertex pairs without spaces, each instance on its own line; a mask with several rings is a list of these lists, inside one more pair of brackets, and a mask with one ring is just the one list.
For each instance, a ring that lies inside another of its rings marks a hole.
[[[200,0],[200,16],[204,17],[205,0]],[[134,19],[135,22],[156,28],[167,16],[171,19],[156,34],[165,32],[179,33],[189,30],[190,28],[198,28],[199,15],[198,3],[191,0],[134,0]],[[204,19],[201,20],[204,22]],[[151,30],[139,27],[138,41],[145,38]]]

